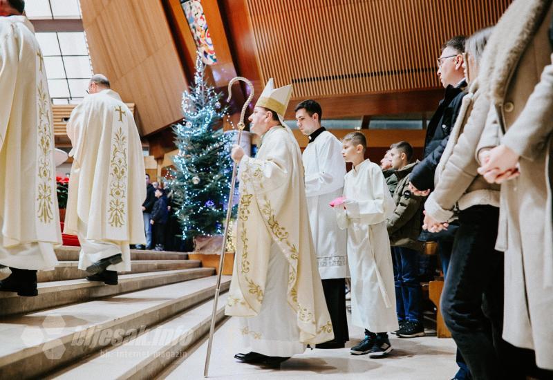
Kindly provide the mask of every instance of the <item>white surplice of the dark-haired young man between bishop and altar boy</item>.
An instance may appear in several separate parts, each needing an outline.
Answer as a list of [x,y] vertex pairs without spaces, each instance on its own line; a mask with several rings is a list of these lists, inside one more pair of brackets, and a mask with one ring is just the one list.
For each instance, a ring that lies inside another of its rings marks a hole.
[[319,274],[323,280],[346,278],[346,231],[339,229],[334,211],[328,205],[344,190],[346,163],[341,142],[328,131],[310,142],[302,155],[306,170],[306,196],[309,222]]

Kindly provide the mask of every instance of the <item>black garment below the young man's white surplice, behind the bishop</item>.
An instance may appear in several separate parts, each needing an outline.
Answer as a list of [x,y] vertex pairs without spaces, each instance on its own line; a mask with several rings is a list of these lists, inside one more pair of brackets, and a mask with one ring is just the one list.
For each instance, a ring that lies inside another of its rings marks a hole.
[[322,283],[326,307],[334,330],[334,339],[330,342],[346,343],[350,340],[346,316],[346,279],[330,278],[323,280]]

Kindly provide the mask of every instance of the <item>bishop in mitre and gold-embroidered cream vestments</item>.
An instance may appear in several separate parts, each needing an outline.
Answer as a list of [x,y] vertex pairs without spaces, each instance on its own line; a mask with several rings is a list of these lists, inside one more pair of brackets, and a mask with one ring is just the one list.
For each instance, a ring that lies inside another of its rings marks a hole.
[[270,79],[250,116],[255,158],[234,145],[240,203],[225,313],[241,316],[245,363],[277,364],[334,338],[311,239],[301,151],[283,123],[292,86]]

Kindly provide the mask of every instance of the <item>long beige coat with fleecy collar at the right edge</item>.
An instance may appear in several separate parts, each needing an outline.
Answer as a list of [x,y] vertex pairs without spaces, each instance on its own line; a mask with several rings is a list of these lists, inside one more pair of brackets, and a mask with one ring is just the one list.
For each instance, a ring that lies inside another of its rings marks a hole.
[[503,338],[535,350],[538,367],[547,370],[553,370],[551,4],[514,1],[491,35],[480,77],[492,104],[479,144],[482,149],[500,142],[521,155],[521,175],[505,182],[500,196],[496,249],[505,251]]

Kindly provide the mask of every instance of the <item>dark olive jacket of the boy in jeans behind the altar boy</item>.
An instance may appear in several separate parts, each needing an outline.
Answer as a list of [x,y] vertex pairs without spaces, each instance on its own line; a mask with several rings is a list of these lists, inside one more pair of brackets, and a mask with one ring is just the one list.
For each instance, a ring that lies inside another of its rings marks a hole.
[[415,164],[413,162],[395,172],[397,187],[392,197],[395,209],[393,216],[386,220],[386,227],[390,236],[390,245],[422,251],[422,243],[418,241],[418,236],[424,197],[413,196],[409,191],[409,177]]

